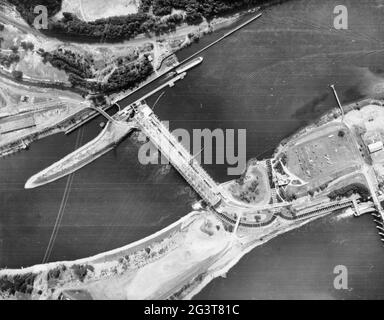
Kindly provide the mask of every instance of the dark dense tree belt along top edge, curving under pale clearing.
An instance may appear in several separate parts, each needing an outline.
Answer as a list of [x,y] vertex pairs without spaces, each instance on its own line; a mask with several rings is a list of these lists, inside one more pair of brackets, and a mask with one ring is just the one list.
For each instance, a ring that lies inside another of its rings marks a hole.
[[[36,5],[45,5],[49,17],[61,9],[62,0],[8,0],[21,15],[33,23]],[[283,0],[282,0],[283,1]],[[49,21],[46,33],[56,36],[85,37],[93,41],[129,40],[143,33],[163,34],[174,31],[181,23],[199,24],[203,18],[212,19],[240,8],[254,7],[271,0],[143,0],[139,12],[126,16],[85,22],[70,13],[60,21]],[[185,16],[172,14],[172,9],[185,11]],[[167,17],[164,17],[167,16]]]

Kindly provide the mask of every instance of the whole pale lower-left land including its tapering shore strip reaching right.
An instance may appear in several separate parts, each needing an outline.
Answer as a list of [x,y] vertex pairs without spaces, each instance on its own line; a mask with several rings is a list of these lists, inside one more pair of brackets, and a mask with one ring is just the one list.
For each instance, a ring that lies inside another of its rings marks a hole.
[[[240,230],[236,238],[208,212],[191,212],[150,237],[94,257],[1,270],[1,298],[68,299],[75,291],[94,299],[189,299],[253,248],[319,217],[281,220],[251,234]],[[16,277],[26,284],[12,285]]]

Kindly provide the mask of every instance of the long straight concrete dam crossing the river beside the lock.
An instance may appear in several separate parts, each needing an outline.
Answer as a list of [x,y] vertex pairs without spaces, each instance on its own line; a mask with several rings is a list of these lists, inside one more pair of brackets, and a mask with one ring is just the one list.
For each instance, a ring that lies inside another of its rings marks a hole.
[[132,105],[138,127],[152,141],[200,197],[211,207],[221,202],[220,188],[193,156],[142,101]]

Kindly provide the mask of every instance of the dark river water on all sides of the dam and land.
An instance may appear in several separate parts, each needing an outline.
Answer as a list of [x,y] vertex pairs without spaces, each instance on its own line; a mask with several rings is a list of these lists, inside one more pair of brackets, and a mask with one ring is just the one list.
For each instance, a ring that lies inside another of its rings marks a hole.
[[[346,31],[333,28],[334,7],[342,4],[349,13]],[[204,62],[165,90],[155,111],[171,129],[246,129],[247,159],[267,157],[284,137],[335,106],[329,84],[336,84],[344,103],[380,97],[383,5],[298,0],[273,7],[204,52]],[[225,31],[203,38],[179,58]],[[32,174],[71,152],[76,141],[92,139],[101,121],[0,160],[0,267],[40,263],[59,212],[49,261],[126,245],[191,211],[195,194],[173,168],[141,165],[134,138],[76,172],[66,193],[67,178],[23,189]],[[226,165],[204,167],[218,182],[234,178]],[[333,287],[337,265],[348,269],[348,290]],[[383,298],[383,267],[384,249],[371,216],[329,217],[256,248],[196,298]]]

